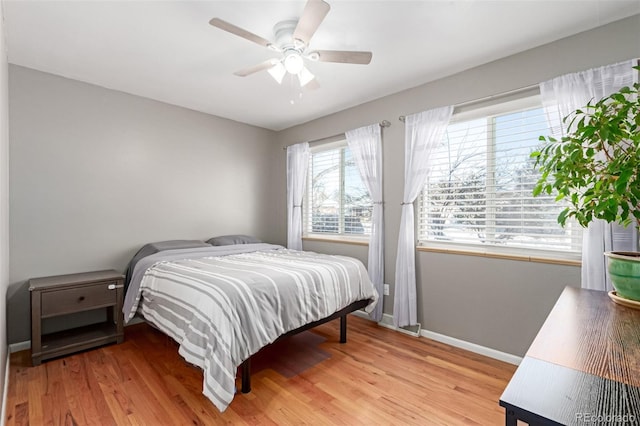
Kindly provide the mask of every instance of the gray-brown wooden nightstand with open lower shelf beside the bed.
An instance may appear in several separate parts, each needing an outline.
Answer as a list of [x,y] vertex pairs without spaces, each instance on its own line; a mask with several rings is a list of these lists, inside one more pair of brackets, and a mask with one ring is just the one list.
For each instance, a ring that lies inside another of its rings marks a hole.
[[[30,279],[33,365],[107,343],[122,343],[123,287],[124,277],[114,270]],[[42,334],[43,319],[94,309],[106,309],[107,320]]]

